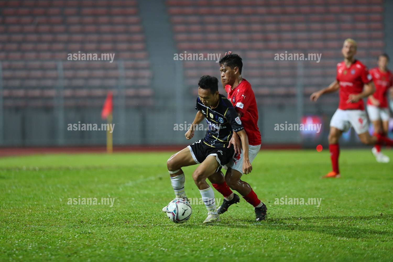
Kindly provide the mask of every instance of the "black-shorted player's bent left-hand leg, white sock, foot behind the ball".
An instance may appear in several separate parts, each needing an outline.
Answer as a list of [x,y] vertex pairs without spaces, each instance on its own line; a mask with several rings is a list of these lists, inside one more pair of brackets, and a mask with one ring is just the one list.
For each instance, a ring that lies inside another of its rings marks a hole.
[[[171,185],[176,198],[187,200],[184,190],[184,172],[182,167],[195,165],[196,162],[188,147],[180,150],[167,161],[167,168],[171,178]],[[188,201],[188,200],[187,200]],[[163,207],[162,212],[166,212],[167,206]]]

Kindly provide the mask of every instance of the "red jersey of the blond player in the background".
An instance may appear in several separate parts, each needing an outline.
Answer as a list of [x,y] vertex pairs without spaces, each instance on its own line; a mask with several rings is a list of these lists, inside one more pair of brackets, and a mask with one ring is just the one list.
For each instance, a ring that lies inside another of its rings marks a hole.
[[364,110],[363,99],[356,103],[348,103],[347,101],[350,94],[362,93],[364,84],[371,82],[372,77],[367,67],[359,60],[355,60],[347,68],[343,61],[337,64],[336,79],[340,84],[340,103],[338,108],[342,110]]

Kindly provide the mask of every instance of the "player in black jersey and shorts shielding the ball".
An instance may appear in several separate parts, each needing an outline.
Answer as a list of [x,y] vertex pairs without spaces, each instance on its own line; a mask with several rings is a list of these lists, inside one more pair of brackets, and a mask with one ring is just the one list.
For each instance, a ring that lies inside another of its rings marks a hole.
[[[206,183],[206,178],[218,172],[232,159],[235,151],[233,147],[228,148],[228,144],[233,132],[240,136],[243,150],[246,152],[248,152],[248,138],[232,104],[219,93],[217,78],[209,75],[200,78],[195,109],[198,112],[190,129],[185,133],[185,138],[188,140],[194,136],[195,127],[204,118],[208,123],[206,136],[171,156],[167,161],[167,167],[176,198],[186,199],[182,167],[200,163],[193,173],[193,179],[208,209],[208,217],[203,223],[219,222],[214,191]],[[251,170],[248,154],[245,154],[243,172],[248,174]],[[163,211],[166,211],[166,207]]]

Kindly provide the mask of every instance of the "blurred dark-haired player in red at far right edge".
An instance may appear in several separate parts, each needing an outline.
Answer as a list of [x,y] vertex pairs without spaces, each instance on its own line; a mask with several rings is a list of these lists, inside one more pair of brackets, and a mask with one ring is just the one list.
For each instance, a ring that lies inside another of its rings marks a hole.
[[[393,86],[393,74],[387,69],[389,56],[382,54],[378,57],[378,67],[370,70],[376,88],[375,93],[367,100],[367,113],[374,126],[375,134],[386,136],[389,126],[389,106],[387,103],[387,93]],[[393,91],[393,88],[391,89]],[[382,154],[381,146],[375,145],[371,150],[380,163],[388,163],[389,157]]]

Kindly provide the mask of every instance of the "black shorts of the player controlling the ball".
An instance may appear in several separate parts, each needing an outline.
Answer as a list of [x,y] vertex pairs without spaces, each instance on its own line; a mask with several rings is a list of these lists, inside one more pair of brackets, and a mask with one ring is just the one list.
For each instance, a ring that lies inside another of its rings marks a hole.
[[216,172],[221,170],[223,165],[228,164],[235,154],[233,147],[210,147],[209,145],[206,145],[202,139],[189,145],[188,149],[197,164],[202,163],[208,156],[215,156],[219,163],[219,168]]

